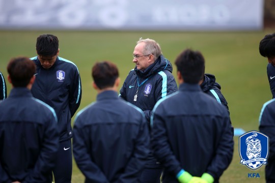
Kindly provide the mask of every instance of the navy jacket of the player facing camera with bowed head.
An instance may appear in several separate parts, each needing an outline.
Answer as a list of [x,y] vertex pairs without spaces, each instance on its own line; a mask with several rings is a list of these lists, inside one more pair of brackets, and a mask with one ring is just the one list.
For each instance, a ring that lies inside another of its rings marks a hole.
[[81,100],[78,69],[75,64],[62,57],[57,57],[49,69],[41,66],[37,56],[31,59],[37,66],[32,94],[56,111],[60,141],[68,140],[72,138],[71,117]]

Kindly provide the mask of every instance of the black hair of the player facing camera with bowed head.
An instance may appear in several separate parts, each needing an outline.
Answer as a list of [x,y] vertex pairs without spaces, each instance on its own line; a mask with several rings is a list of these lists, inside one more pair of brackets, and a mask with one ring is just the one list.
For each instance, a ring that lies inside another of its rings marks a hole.
[[36,40],[37,54],[43,56],[54,56],[59,48],[58,37],[50,34],[40,35]]

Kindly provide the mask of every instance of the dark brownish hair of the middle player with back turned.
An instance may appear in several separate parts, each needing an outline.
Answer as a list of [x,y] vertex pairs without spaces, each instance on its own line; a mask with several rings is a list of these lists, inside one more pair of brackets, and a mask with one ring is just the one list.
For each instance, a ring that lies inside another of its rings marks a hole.
[[115,64],[102,61],[97,62],[92,68],[92,77],[99,89],[113,87],[119,77],[119,71]]

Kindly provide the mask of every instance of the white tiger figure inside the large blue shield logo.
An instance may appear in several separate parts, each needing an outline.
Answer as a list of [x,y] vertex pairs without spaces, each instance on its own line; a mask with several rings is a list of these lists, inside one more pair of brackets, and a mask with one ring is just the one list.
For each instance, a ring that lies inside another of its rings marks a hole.
[[251,160],[254,158],[260,158],[261,157],[261,141],[255,137],[257,137],[257,133],[253,132],[252,136],[249,136],[246,138],[246,156]]

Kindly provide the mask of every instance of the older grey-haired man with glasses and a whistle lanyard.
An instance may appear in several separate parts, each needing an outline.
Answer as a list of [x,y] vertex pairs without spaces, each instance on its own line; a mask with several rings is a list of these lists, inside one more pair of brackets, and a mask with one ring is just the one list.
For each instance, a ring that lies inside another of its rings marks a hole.
[[[164,58],[159,44],[152,39],[137,41],[133,51],[135,68],[131,70],[120,89],[120,97],[141,108],[145,113],[148,126],[152,110],[159,99],[178,90],[172,75],[172,65]],[[160,182],[162,165],[153,156],[152,148],[140,181]]]

